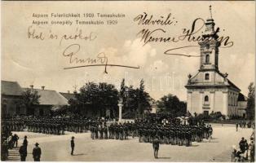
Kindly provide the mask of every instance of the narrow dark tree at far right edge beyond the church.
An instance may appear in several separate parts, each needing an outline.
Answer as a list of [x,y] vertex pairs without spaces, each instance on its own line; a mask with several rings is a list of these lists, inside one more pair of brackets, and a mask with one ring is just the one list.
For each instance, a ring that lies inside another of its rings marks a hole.
[[255,86],[254,82],[249,83],[248,86],[249,93],[248,93],[248,101],[246,107],[246,115],[249,120],[254,120],[255,114]]

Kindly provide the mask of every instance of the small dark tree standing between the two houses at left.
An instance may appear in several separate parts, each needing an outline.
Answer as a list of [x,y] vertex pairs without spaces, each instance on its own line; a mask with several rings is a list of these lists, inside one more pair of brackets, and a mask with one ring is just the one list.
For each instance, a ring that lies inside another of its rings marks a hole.
[[39,99],[40,95],[38,95],[38,90],[26,89],[22,92],[22,104],[26,108],[27,115],[33,115],[34,105],[40,104]]

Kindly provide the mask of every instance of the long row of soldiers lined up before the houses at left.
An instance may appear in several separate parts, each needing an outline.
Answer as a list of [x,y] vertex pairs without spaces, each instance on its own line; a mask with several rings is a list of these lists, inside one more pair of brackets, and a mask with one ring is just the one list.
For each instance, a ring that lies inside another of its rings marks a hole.
[[37,118],[24,117],[2,119],[2,130],[22,131],[27,129],[29,132],[43,134],[64,134],[64,131],[75,133],[87,132],[89,127],[96,122],[105,123],[99,118]]

